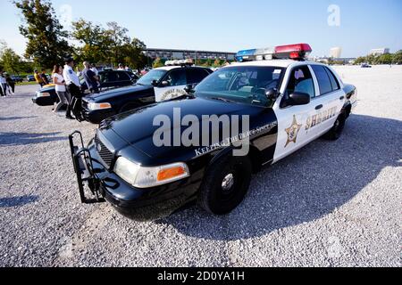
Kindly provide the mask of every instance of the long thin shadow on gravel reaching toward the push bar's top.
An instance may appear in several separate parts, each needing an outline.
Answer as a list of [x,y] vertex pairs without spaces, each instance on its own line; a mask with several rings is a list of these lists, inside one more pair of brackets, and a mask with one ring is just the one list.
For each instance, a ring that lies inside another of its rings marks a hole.
[[56,136],[57,134],[61,133],[29,134],[0,132],[0,146],[29,145],[67,140],[67,137]]

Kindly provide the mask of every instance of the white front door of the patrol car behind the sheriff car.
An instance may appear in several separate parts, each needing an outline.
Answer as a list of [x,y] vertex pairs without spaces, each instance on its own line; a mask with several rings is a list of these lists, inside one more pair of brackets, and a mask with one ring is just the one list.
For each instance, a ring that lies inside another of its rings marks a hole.
[[163,78],[160,85],[155,87],[156,102],[163,102],[186,94],[184,87],[187,85],[186,69],[172,69]]

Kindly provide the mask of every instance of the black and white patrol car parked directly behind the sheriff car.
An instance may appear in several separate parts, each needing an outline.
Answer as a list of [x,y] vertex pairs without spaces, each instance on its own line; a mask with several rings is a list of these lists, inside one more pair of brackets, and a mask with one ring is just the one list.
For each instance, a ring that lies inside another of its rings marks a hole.
[[172,64],[152,69],[139,78],[136,85],[84,98],[82,117],[88,122],[99,124],[105,118],[121,112],[172,99],[185,94],[186,85],[197,84],[213,72],[211,69],[186,66],[186,61]]

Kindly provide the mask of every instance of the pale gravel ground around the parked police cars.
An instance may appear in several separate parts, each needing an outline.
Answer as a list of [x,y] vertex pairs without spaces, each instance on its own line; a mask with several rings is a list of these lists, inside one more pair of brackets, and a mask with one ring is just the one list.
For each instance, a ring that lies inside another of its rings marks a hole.
[[338,142],[265,168],[229,216],[153,223],[80,204],[67,136],[96,126],[18,86],[0,98],[0,266],[400,266],[402,67],[337,69],[360,98]]

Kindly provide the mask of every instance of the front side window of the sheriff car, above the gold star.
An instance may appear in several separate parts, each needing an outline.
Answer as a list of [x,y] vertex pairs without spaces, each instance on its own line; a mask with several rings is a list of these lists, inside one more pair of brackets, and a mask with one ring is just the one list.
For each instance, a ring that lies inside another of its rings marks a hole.
[[309,94],[311,98],[315,97],[313,77],[306,65],[292,70],[288,87],[285,91],[285,98],[295,92]]

